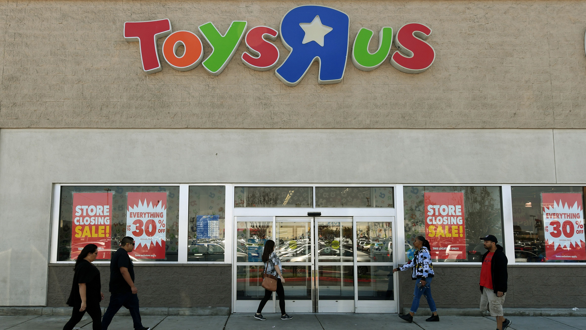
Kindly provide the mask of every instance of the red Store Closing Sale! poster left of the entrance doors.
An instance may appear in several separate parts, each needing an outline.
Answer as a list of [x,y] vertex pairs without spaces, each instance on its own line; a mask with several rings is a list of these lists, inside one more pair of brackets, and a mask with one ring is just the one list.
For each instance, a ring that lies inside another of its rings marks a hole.
[[110,259],[112,193],[73,193],[71,259],[87,244],[98,246],[97,259]]

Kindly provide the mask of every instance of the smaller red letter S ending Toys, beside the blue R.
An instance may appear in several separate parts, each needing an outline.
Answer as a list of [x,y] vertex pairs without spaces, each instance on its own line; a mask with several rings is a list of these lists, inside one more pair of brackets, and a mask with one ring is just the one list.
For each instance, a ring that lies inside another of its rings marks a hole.
[[246,48],[253,55],[258,56],[254,58],[249,53],[242,54],[242,62],[253,70],[266,71],[274,68],[279,60],[279,49],[272,43],[265,41],[264,38],[277,40],[278,32],[268,26],[256,26],[248,30],[246,33]]

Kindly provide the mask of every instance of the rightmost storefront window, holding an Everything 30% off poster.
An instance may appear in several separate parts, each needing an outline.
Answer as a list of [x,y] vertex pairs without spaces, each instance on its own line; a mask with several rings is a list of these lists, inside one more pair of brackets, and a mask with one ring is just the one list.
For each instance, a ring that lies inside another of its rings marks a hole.
[[512,187],[515,262],[585,262],[586,187]]

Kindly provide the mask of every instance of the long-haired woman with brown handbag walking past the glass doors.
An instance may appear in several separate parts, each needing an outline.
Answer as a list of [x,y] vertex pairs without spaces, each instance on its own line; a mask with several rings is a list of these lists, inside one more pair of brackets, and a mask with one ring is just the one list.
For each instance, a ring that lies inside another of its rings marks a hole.
[[[285,289],[283,288],[285,278],[282,275],[283,270],[281,266],[281,260],[277,258],[277,253],[275,253],[275,241],[267,240],[264,243],[263,262],[264,272],[277,277],[277,295],[279,296],[281,319],[292,319],[293,317],[289,316],[287,312],[285,312]],[[264,298],[260,301],[260,304],[258,304],[257,312],[254,314],[255,319],[260,319],[261,321],[265,320],[263,314],[261,313],[263,312],[264,305],[267,304],[268,299],[271,299],[271,297],[272,291],[265,289]]]

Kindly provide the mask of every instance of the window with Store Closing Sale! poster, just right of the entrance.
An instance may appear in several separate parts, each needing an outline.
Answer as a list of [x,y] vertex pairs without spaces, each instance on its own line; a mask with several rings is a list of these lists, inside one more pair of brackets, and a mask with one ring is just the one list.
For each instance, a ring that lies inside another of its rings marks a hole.
[[430,241],[434,262],[479,262],[486,235],[505,246],[500,187],[405,186],[404,212],[407,261],[419,235]]

